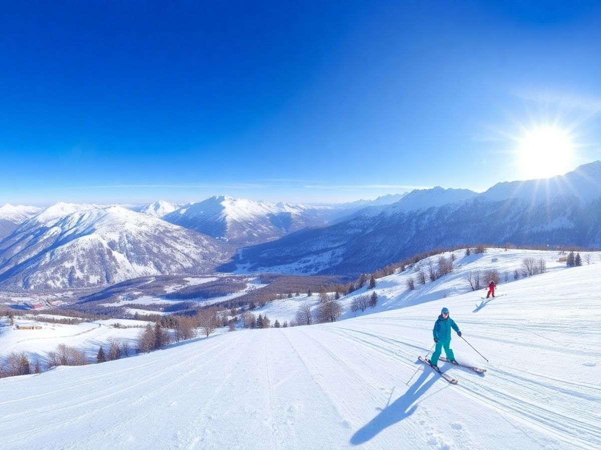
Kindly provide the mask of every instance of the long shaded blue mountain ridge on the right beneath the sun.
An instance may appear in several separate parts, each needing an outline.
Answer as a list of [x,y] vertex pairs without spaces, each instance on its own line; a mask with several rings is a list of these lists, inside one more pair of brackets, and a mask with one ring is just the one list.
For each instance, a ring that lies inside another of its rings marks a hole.
[[355,275],[431,248],[478,242],[600,247],[600,166],[597,161],[564,175],[570,194],[548,190],[549,181],[520,182],[523,192],[529,189],[526,197],[504,185],[492,188],[495,196],[491,190],[413,191],[332,226],[245,248],[236,262],[251,271]]

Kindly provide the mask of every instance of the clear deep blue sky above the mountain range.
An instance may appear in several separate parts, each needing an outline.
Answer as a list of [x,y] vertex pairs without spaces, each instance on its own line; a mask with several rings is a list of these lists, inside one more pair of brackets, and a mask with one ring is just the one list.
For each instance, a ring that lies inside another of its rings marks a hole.
[[601,2],[5,4],[0,204],[484,190],[548,121],[567,172],[601,159],[599,49]]

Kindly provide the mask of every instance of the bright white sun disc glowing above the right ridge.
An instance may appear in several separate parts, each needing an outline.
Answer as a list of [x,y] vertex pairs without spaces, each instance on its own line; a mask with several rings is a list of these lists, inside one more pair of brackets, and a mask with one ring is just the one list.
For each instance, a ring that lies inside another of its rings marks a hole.
[[519,158],[526,178],[549,178],[573,169],[573,144],[566,131],[555,127],[530,130],[519,141]]

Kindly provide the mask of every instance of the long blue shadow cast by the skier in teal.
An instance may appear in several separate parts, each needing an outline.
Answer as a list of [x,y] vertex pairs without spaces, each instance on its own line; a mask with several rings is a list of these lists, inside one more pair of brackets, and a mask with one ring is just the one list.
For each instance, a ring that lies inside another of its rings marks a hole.
[[376,436],[380,431],[412,415],[417,409],[416,401],[436,383],[438,378],[439,376],[432,370],[424,370],[421,376],[415,380],[415,383],[407,389],[407,392],[398,397],[394,403],[382,409],[368,424],[365,424],[361,430],[353,434],[353,437],[350,438],[350,443],[352,445],[361,445]]

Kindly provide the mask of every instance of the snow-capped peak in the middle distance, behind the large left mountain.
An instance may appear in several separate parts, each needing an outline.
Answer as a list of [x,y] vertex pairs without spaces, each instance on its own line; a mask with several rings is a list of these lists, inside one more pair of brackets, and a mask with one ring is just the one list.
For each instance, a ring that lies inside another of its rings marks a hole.
[[213,196],[163,218],[213,238],[235,243],[264,242],[304,227],[328,222],[335,208]]

